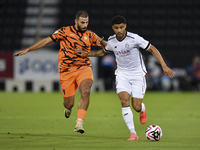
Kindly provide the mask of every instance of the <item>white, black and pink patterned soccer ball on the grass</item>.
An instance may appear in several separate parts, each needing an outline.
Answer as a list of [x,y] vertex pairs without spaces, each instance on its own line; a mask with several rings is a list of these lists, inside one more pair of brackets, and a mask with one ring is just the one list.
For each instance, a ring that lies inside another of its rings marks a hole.
[[150,125],[145,131],[146,137],[149,141],[159,141],[162,137],[162,129],[157,125]]

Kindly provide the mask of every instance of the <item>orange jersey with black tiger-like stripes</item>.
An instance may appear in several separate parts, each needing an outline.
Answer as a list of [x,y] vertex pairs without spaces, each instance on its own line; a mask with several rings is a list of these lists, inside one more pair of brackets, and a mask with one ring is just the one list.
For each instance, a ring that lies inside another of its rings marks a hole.
[[74,26],[67,26],[58,29],[50,37],[54,42],[60,41],[58,56],[60,73],[75,71],[81,66],[91,66],[89,57],[77,56],[74,50],[82,48],[85,53],[89,53],[91,45],[97,46],[96,40],[100,37],[94,32],[87,30],[82,33],[77,31]]

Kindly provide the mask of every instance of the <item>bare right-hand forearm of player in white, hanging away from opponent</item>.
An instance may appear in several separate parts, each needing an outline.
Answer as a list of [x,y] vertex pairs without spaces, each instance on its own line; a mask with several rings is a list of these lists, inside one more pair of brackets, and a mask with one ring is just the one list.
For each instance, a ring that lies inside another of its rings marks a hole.
[[151,52],[153,54],[153,56],[160,62],[164,73],[166,75],[168,75],[170,78],[173,78],[174,72],[166,65],[166,63],[163,60],[160,52],[153,45],[150,45],[150,47],[147,51]]

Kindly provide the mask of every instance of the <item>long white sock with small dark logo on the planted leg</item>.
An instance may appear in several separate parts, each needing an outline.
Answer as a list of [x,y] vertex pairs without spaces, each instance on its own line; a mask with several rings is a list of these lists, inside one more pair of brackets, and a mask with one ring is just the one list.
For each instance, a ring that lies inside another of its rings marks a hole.
[[122,116],[124,118],[124,121],[130,130],[131,133],[136,133],[135,132],[135,126],[133,122],[133,113],[131,111],[130,106],[128,107],[122,107]]

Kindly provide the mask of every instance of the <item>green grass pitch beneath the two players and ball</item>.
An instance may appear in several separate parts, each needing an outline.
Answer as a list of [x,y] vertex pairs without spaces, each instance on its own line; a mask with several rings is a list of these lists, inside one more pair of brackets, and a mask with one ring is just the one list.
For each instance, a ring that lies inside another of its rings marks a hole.
[[[200,93],[146,92],[147,122],[133,111],[139,141],[127,141],[129,130],[115,92],[91,93],[85,133],[75,133],[76,94],[71,117],[64,117],[62,93],[0,92],[0,150],[199,150]],[[148,125],[163,130],[159,142],[145,137]]]

